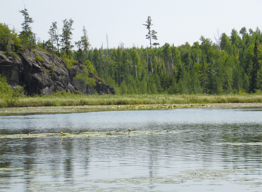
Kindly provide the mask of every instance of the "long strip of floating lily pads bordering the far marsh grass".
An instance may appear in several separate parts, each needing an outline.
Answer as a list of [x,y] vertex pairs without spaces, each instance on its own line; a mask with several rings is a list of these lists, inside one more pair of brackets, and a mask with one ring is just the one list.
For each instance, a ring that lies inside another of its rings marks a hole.
[[116,109],[172,109],[172,108],[208,108],[208,107],[262,107],[262,103],[195,103],[195,104],[137,104],[137,105],[84,105],[84,106],[45,106],[45,107],[6,107],[0,108],[0,115],[25,113],[86,112]]

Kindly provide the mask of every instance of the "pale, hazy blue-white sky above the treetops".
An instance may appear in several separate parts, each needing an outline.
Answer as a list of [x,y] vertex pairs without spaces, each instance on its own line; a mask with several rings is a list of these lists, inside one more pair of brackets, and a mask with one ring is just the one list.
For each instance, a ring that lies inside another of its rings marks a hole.
[[201,35],[211,38],[214,33],[226,33],[230,36],[235,28],[261,30],[261,0],[0,0],[0,22],[10,24],[21,31],[23,22],[19,10],[28,9],[33,18],[33,33],[41,40],[48,40],[47,31],[52,22],[57,22],[59,32],[63,27],[62,20],[74,20],[73,41],[80,40],[85,26],[91,46],[106,48],[106,34],[109,48],[117,47],[123,42],[126,47],[136,45],[150,46],[146,39],[147,29],[144,25],[148,16],[153,20],[160,45],[168,42],[175,46],[199,41]]

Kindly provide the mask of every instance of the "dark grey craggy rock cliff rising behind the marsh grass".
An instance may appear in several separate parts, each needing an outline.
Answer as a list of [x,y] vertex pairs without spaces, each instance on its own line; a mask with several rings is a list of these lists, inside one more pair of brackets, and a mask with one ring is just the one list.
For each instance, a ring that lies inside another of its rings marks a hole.
[[[44,61],[37,61],[37,56]],[[20,57],[6,56],[0,51],[1,75],[6,77],[11,86],[25,85],[24,89],[28,95],[49,95],[62,90],[71,93],[78,90],[88,95],[95,91],[100,95],[115,94],[114,88],[109,87],[91,72],[89,77],[95,79],[95,86],[74,81],[77,72],[82,70],[79,63],[67,70],[63,60],[43,51],[26,51],[21,53]]]

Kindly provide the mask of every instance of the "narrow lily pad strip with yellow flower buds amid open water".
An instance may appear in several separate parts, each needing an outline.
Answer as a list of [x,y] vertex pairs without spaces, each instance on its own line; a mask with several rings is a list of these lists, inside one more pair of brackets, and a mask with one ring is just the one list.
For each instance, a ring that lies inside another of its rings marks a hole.
[[37,138],[37,137],[119,137],[119,136],[136,136],[136,135],[159,135],[175,134],[179,131],[91,131],[82,133],[37,133],[37,134],[13,134],[0,135],[1,138]]

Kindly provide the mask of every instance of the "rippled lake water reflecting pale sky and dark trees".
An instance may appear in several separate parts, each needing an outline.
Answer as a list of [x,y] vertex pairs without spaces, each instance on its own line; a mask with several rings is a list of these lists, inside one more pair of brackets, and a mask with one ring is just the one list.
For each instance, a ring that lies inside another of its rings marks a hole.
[[262,191],[261,108],[12,115],[0,122],[1,134],[176,131],[1,139],[1,191]]

